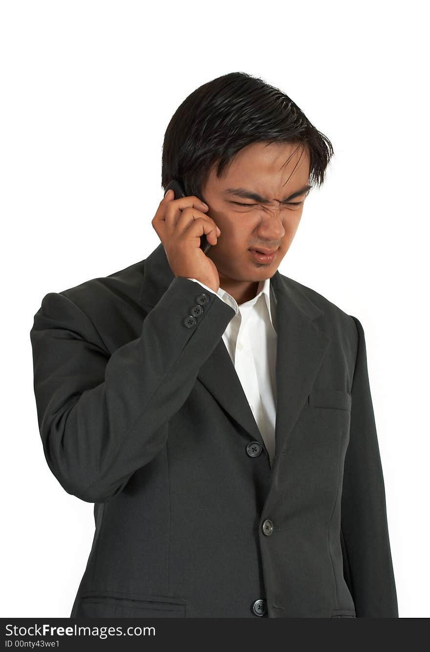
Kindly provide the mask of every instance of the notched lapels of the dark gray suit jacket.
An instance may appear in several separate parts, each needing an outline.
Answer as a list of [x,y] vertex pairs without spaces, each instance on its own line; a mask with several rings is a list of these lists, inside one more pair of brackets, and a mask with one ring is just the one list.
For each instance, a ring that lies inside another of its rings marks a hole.
[[[145,261],[140,302],[153,308],[174,279],[162,244]],[[270,279],[277,298],[277,414],[275,424],[275,467],[294,423],[305,404],[330,337],[320,331],[315,318],[322,313],[290,278],[279,271]],[[264,445],[234,364],[223,338],[200,367],[197,376],[207,391],[253,439]]]

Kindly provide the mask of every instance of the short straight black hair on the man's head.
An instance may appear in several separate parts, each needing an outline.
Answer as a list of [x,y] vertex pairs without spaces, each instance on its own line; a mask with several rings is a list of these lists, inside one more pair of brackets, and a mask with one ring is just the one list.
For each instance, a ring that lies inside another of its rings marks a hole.
[[172,179],[201,197],[218,162],[217,177],[240,149],[256,141],[298,143],[309,153],[309,185],[321,186],[333,146],[283,91],[246,72],[204,83],[177,108],[164,134],[161,185]]

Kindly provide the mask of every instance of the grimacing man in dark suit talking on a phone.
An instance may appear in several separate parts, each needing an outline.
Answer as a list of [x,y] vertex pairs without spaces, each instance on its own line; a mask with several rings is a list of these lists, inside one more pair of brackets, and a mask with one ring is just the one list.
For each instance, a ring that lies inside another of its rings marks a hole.
[[71,617],[398,617],[363,328],[278,271],[332,153],[262,80],[203,85],[159,246],[42,300],[44,453],[95,503]]

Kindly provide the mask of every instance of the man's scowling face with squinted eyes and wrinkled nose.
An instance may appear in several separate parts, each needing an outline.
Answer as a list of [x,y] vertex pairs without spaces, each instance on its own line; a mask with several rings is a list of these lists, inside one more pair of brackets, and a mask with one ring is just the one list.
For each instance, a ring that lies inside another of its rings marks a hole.
[[[299,226],[309,185],[307,149],[296,143],[267,143],[241,149],[224,178],[217,178],[214,166],[202,188],[201,198],[209,206],[206,214],[221,229],[207,256],[217,266],[224,289],[228,280],[256,282],[273,276]],[[238,188],[266,201],[240,196]],[[261,263],[253,248],[277,251],[273,261]]]

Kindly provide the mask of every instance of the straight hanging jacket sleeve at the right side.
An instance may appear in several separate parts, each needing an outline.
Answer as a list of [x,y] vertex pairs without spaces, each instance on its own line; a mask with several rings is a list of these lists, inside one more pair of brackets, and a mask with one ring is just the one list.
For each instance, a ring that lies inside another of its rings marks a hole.
[[365,337],[360,321],[356,317],[353,319],[358,331],[358,350],[341,499],[345,581],[358,618],[397,618],[384,478],[367,373]]

